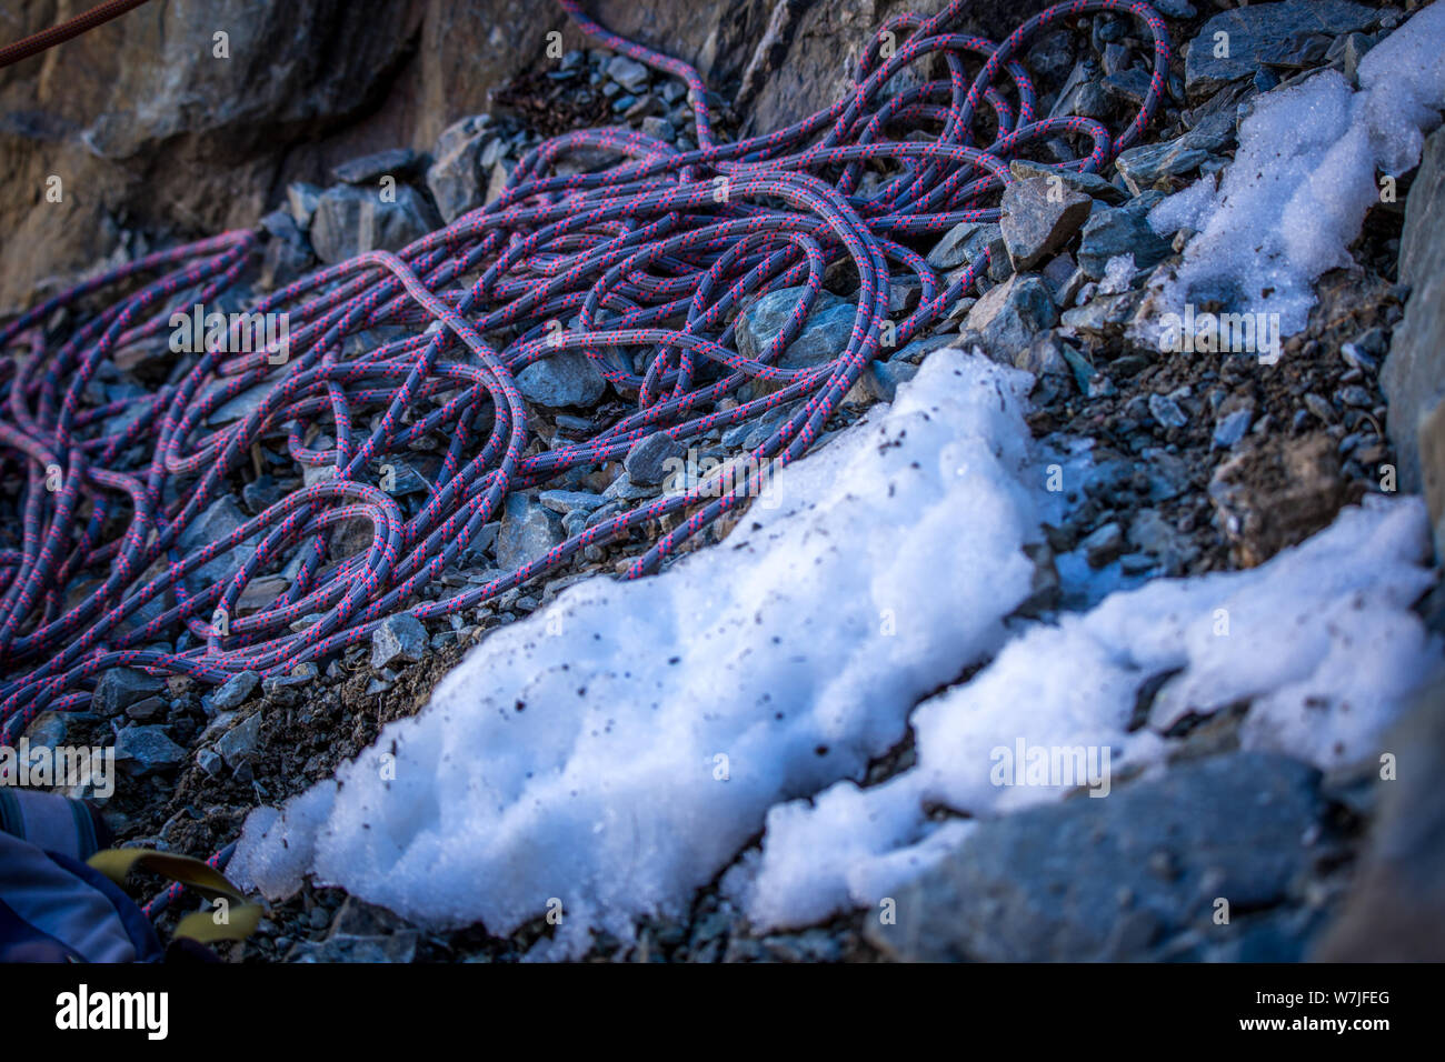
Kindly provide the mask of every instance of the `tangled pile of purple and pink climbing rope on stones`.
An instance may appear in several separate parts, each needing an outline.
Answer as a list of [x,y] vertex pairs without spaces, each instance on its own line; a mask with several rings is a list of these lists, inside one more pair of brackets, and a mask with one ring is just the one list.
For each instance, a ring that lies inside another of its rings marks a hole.
[[[577,0],[559,3],[600,45],[686,82],[695,150],[627,129],[543,142],[497,201],[394,254],[360,254],[262,298],[250,312],[286,314],[286,344],[237,351],[208,342],[194,367],[143,397],[95,402],[91,384],[117,351],[156,342],[173,314],[231,288],[256,264],[256,233],[149,254],[0,328],[9,353],[0,363],[0,454],[26,474],[22,540],[0,549],[0,740],[14,743],[40,711],[82,708],[111,668],[204,683],[243,670],[282,676],[368,639],[387,616],[475,608],[591,545],[678,514],[627,578],[655,572],[756,494],[769,465],[802,457],[884,344],[903,345],[938,322],[988,266],[985,251],[939,277],[907,241],[997,220],[988,204],[1010,181],[1007,160],[1029,144],[1084,140],[1087,153],[1062,168],[1100,170],[1140,137],[1168,78],[1168,32],[1144,3],[1074,0],[996,43],[948,32],[965,7],[952,0],[933,17],[880,26],[851,91],[832,107],[718,143],[692,66],[610,33]],[[1147,95],[1117,137],[1091,118],[1036,118],[1033,84],[1017,62],[1040,29],[1088,12],[1127,13],[1153,38]],[[890,84],[933,56],[946,78]],[[970,65],[978,66],[972,75]],[[922,127],[936,134],[902,139]],[[568,156],[595,150],[623,162],[556,172]],[[838,263],[858,277],[845,348],[822,366],[775,364]],[[922,298],[892,322],[890,280],[906,276]],[[744,299],[790,286],[805,293],[782,334],[756,358],[738,353],[734,316]],[[85,308],[113,289],[123,293],[87,319]],[[61,309],[84,324],[52,338]],[[386,325],[412,334],[363,353],[345,344]],[[636,394],[637,407],[590,438],[542,449],[529,441],[516,376],[562,351],[585,353],[618,393]],[[636,364],[631,351],[642,353]],[[243,394],[254,399],[249,412],[212,423]],[[656,432],[686,444],[795,402],[796,412],[747,455],[746,481],[721,488],[708,478],[601,519],[484,585],[419,597],[438,592],[444,569],[510,493],[620,459]],[[311,449],[322,425],[334,442]],[[299,471],[318,470],[309,485],[224,538],[182,548],[202,513],[234,490],[260,439],[277,433]],[[407,517],[377,485],[377,470],[425,436],[449,444],[425,503]],[[334,556],[331,532],[354,520],[371,526],[368,548]],[[205,578],[207,565],[246,542],[256,543],[253,555],[220,581]],[[288,588],[236,617],[247,585],[280,565]],[[303,617],[315,621],[293,630]],[[169,650],[155,646],[162,640]]]

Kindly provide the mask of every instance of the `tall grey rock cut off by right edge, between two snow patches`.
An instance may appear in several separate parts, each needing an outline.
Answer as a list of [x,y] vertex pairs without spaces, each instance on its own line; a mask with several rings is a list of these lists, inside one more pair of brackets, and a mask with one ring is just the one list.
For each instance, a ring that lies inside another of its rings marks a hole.
[[1445,556],[1445,129],[1425,142],[1400,240],[1400,282],[1410,286],[1380,383],[1400,490],[1425,490],[1435,552]]

